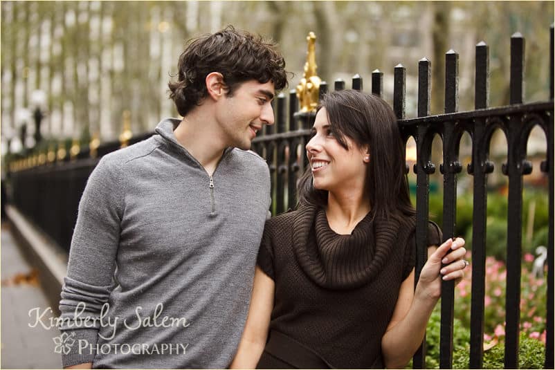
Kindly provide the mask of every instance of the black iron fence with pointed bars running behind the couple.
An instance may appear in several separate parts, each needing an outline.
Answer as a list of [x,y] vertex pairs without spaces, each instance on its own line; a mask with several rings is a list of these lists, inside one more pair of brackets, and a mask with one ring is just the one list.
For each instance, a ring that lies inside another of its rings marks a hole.
[[[412,136],[417,145],[417,161],[412,171],[417,175],[417,276],[426,261],[428,223],[429,176],[436,170],[431,161],[431,147],[436,135],[443,142],[443,163],[439,171],[444,178],[443,224],[444,239],[455,232],[457,212],[457,174],[463,168],[458,160],[462,135],[468,133],[472,139],[472,160],[466,171],[473,176],[473,234],[472,234],[472,302],[471,342],[468,367],[482,367],[484,337],[484,295],[486,275],[486,204],[487,176],[494,170],[489,160],[490,142],[493,133],[500,130],[507,138],[507,163],[501,171],[509,178],[509,212],[507,215],[507,298],[505,302],[506,340],[504,366],[518,367],[520,332],[520,281],[522,261],[522,178],[531,173],[527,160],[527,141],[531,129],[540,127],[547,138],[547,156],[540,170],[548,176],[549,237],[547,246],[547,316],[545,367],[554,367],[554,83],[553,50],[554,35],[551,28],[550,44],[550,100],[523,104],[525,40],[520,34],[511,37],[510,105],[489,108],[489,49],[481,42],[475,55],[475,110],[457,112],[458,55],[450,50],[446,53],[445,113],[430,115],[431,65],[427,59],[418,64],[418,117],[405,117],[406,69],[394,68],[393,109],[399,119],[401,134],[405,142]],[[546,76],[547,77],[547,76]],[[336,81],[334,89],[345,89],[345,82]],[[363,78],[355,75],[352,89],[363,89]],[[328,90],[324,82],[320,95]],[[372,73],[372,93],[382,95],[383,73]],[[289,113],[288,113],[289,112]],[[307,142],[313,113],[298,111],[295,93],[289,98],[278,95],[275,101],[276,124],[266,126],[263,133],[253,141],[253,150],[266,158],[272,176],[273,213],[279,214],[296,203],[295,187],[300,172],[307,166],[304,145]],[[143,140],[152,133],[136,137],[131,143]],[[99,156],[118,147],[117,142],[103,145]],[[98,160],[88,158],[82,151],[78,159],[65,160],[10,173],[13,202],[26,216],[35,221],[60,246],[69,248],[71,233],[75,225],[78,201],[87,178]],[[407,167],[407,172],[409,168]],[[453,362],[453,282],[444,282],[442,287],[442,322],[440,340],[440,367],[451,368]],[[415,355],[415,368],[426,367],[426,348],[423,346]]]

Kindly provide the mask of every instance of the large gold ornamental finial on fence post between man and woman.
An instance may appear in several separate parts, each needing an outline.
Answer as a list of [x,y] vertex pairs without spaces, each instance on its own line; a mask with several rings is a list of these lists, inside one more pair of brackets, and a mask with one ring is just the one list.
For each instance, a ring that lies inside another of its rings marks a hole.
[[300,110],[303,112],[315,111],[318,107],[318,94],[322,82],[316,75],[316,35],[313,32],[309,33],[307,41],[307,62],[304,63],[304,74],[296,89]]

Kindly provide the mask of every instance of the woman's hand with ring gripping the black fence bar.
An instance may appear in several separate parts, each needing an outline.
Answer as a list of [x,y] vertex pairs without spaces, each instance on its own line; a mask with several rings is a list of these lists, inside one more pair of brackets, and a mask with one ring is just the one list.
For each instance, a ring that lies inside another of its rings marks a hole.
[[428,257],[420,272],[415,295],[421,298],[439,299],[442,295],[442,280],[454,280],[458,284],[468,266],[464,255],[464,239],[448,239]]

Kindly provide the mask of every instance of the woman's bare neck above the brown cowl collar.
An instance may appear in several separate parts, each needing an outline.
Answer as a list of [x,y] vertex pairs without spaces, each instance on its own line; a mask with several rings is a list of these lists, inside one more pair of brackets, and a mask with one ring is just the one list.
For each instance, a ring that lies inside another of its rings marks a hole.
[[359,194],[334,194],[328,192],[326,217],[331,230],[337,234],[351,234],[356,225],[371,210],[370,200]]

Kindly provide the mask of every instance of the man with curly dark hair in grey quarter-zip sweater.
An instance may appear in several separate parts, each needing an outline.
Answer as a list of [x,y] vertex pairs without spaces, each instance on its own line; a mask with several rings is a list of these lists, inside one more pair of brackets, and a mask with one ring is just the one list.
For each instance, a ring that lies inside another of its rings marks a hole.
[[60,301],[64,367],[224,368],[270,206],[251,151],[286,86],[275,45],[228,27],[192,41],[163,120],[104,156],[82,196]]

